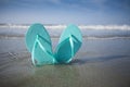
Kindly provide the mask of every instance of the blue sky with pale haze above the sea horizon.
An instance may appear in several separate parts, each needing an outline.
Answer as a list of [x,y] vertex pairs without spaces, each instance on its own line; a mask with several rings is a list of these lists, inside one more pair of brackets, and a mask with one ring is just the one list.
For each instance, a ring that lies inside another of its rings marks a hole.
[[130,0],[0,0],[0,23],[130,25]]

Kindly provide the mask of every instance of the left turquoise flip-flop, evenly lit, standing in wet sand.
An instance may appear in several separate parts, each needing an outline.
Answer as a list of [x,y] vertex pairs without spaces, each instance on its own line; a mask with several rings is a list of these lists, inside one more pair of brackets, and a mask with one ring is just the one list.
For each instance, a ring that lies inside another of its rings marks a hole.
[[51,38],[42,24],[32,24],[26,34],[26,47],[34,65],[54,64]]

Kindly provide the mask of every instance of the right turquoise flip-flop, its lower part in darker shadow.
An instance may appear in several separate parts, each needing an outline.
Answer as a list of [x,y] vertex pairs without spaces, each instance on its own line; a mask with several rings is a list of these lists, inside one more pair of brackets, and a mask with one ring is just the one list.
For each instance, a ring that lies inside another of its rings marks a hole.
[[79,28],[68,25],[61,35],[55,50],[55,60],[58,63],[69,63],[82,44],[82,36]]

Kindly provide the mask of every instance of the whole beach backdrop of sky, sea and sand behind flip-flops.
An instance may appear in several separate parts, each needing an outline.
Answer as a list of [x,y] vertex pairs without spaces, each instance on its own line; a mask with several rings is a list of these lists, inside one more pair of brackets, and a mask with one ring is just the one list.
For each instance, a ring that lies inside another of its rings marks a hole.
[[[80,28],[69,64],[32,65],[25,35],[34,23],[53,51],[68,24]],[[0,0],[0,87],[130,87],[130,0]]]

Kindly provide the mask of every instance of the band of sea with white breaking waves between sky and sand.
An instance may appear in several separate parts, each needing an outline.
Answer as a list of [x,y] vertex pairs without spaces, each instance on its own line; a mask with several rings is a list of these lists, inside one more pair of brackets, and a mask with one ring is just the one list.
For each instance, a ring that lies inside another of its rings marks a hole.
[[[30,24],[0,24],[0,38],[23,38]],[[78,25],[83,38],[105,39],[105,38],[129,38],[130,25]],[[53,38],[58,38],[66,27],[61,24],[44,24],[49,34]]]

